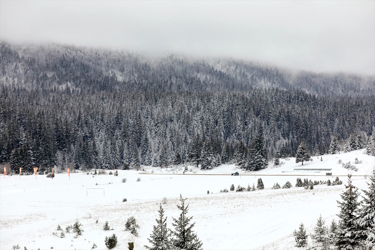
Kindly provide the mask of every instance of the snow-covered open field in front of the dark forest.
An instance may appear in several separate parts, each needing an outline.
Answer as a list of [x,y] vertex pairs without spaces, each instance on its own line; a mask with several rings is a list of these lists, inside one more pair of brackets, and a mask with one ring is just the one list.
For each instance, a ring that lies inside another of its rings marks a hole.
[[[356,164],[357,172],[348,171],[338,163],[339,159],[354,163],[356,157],[363,161]],[[336,200],[345,190],[346,175],[353,173],[354,185],[367,189],[366,176],[371,175],[375,166],[375,157],[363,154],[363,150],[325,155],[323,161],[321,156],[312,158],[313,161],[304,162],[303,166],[292,157],[281,159],[284,164],[278,168],[270,163],[267,169],[250,173],[234,165],[223,165],[210,171],[188,166],[192,171],[185,174],[182,166],[144,167],[145,172],[118,171],[118,176],[76,173],[71,174],[70,180],[68,174],[56,174],[53,180],[45,175],[1,176],[0,249],[12,249],[17,244],[29,250],[91,249],[93,243],[98,249],[107,249],[104,239],[112,234],[116,234],[118,241],[114,249],[127,249],[128,242],[134,242],[134,249],[144,249],[144,245],[149,245],[147,237],[153,230],[160,202],[168,199],[163,208],[172,228],[172,217],[179,216],[176,205],[180,194],[188,198],[188,215],[193,216],[193,230],[204,249],[296,249],[293,230],[303,222],[307,233],[311,233],[320,214],[327,225],[333,218],[337,221]],[[230,175],[236,171],[240,172],[239,176]],[[332,172],[332,176],[326,176],[326,172]],[[344,184],[317,185],[314,190],[294,187],[297,177],[333,181],[336,176]],[[127,179],[125,183],[121,182],[123,178]],[[136,181],[137,178],[141,181]],[[258,178],[262,178],[264,190],[220,193],[222,189],[229,190],[231,184],[257,186]],[[276,182],[283,186],[286,181],[292,183],[291,189],[271,189]],[[127,202],[122,202],[123,198]],[[140,226],[138,237],[124,231],[130,216]],[[65,229],[76,219],[83,225],[82,236],[52,235],[58,232],[58,225]],[[103,230],[105,221],[113,231]]]

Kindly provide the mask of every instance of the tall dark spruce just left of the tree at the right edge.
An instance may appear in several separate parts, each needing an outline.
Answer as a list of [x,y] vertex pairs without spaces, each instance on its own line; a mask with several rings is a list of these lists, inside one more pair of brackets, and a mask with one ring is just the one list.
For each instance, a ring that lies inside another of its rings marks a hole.
[[336,246],[338,249],[356,249],[358,243],[356,241],[355,232],[357,231],[357,211],[359,207],[359,202],[357,201],[359,193],[358,188],[354,187],[351,183],[351,174],[348,175],[348,185],[345,185],[345,192],[340,196],[342,202],[337,201],[340,208],[340,213],[338,214],[339,226],[336,235]]

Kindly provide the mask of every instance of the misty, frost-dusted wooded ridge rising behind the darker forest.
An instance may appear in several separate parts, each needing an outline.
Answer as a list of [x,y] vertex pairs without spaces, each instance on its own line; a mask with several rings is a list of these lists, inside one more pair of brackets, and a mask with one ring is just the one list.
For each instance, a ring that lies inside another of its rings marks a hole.
[[59,44],[0,43],[3,86],[12,90],[220,92],[264,88],[318,96],[375,92],[374,75],[294,72],[228,58],[150,56]]

